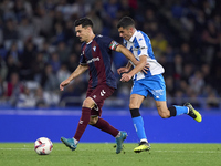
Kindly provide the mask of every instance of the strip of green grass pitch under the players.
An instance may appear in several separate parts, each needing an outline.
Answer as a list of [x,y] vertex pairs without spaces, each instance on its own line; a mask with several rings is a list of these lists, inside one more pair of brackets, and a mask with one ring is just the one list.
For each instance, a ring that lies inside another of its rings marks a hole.
[[221,144],[151,144],[149,152],[136,154],[137,144],[80,143],[72,152],[54,143],[50,155],[38,155],[33,143],[0,143],[0,166],[221,166]]

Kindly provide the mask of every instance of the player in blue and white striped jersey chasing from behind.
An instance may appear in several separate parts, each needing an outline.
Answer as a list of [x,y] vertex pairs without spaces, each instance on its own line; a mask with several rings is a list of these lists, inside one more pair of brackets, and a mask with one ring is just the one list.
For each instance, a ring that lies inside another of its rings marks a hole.
[[[155,100],[159,115],[162,118],[188,114],[197,122],[201,122],[202,117],[190,103],[185,106],[172,105],[167,107],[166,103],[166,85],[162,77],[165,72],[164,68],[155,59],[150,39],[143,31],[136,30],[135,22],[129,17],[124,17],[117,23],[119,37],[124,39],[124,45],[134,54],[134,56],[143,62],[149,63],[147,73],[143,71],[134,75],[134,85],[130,93],[130,114],[138,138],[140,139],[139,146],[134,148],[135,153],[149,151],[150,144],[147,141],[145,133],[144,121],[139,113],[140,105],[146,96],[151,96]],[[129,81],[131,74],[128,73],[134,63],[129,61],[125,68],[120,68],[117,72],[122,74],[120,81]]]

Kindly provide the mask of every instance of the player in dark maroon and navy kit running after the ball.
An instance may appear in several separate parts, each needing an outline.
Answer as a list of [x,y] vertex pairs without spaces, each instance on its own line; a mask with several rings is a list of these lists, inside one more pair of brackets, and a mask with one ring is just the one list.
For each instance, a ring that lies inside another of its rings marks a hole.
[[108,37],[95,35],[93,23],[90,19],[83,18],[75,21],[75,32],[80,41],[83,42],[80,64],[75,71],[60,84],[63,91],[72,80],[90,71],[90,81],[86,98],[82,105],[82,116],[77,124],[77,129],[73,138],[61,137],[61,141],[72,151],[76,149],[87,124],[102,129],[116,138],[116,153],[123,149],[123,142],[127,133],[113,127],[107,121],[101,118],[104,101],[117,89],[116,79],[112,71],[112,51],[122,52],[136,68],[128,74],[134,75],[145,69],[146,63],[139,63],[130,51]]

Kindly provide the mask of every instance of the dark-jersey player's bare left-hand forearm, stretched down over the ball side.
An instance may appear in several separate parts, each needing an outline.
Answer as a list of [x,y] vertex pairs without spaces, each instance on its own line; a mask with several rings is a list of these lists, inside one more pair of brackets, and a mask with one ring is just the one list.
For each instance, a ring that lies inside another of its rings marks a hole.
[[60,84],[60,90],[63,91],[64,86],[69,85],[72,80],[84,73],[88,69],[87,65],[80,64],[75,71]]

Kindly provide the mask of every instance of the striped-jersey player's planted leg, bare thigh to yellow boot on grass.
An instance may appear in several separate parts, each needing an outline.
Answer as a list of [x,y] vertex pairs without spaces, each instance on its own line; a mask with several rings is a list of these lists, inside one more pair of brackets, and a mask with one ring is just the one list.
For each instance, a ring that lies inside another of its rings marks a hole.
[[140,141],[139,146],[134,148],[135,153],[140,153],[144,151],[149,151],[150,145],[147,141],[147,136],[145,133],[145,127],[144,127],[144,120],[139,113],[139,107],[144,101],[145,96],[139,95],[139,94],[131,94],[130,95],[130,102],[129,102],[129,110],[131,114],[131,120],[134,123],[135,131],[137,133],[137,136]]

